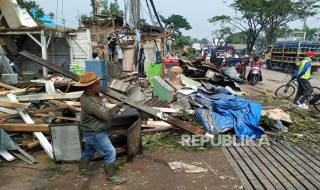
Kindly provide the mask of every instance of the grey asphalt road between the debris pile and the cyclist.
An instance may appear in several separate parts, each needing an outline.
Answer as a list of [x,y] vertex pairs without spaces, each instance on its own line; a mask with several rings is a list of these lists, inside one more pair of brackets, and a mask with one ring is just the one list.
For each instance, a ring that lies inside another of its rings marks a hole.
[[[247,67],[247,74],[248,70],[250,70],[250,67]],[[264,85],[258,84],[256,87],[266,89],[270,94],[275,94],[275,90],[288,83],[291,78],[290,74],[286,74],[284,70],[267,70],[265,67],[262,68],[262,77],[264,78]],[[311,85],[320,87],[320,70],[312,74],[311,77]]]

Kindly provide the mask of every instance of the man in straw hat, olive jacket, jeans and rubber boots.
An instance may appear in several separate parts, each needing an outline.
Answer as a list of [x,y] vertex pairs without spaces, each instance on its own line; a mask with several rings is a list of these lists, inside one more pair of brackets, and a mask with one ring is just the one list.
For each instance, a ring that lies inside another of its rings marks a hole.
[[116,176],[116,149],[107,136],[107,129],[111,125],[111,118],[114,118],[124,103],[118,103],[115,107],[108,109],[99,96],[100,80],[94,72],[87,72],[80,76],[80,81],[74,86],[84,87],[81,103],[80,127],[85,138],[85,150],[81,155],[78,164],[78,177],[96,174],[96,171],[89,170],[89,162],[96,151],[103,156],[104,171],[107,182],[121,184],[126,178]]

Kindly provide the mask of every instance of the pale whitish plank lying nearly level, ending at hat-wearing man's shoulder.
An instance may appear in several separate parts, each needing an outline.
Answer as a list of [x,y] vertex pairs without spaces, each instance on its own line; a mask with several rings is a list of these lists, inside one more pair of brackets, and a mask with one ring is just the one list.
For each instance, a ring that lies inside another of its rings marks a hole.
[[17,99],[18,101],[58,100],[58,99],[80,98],[82,94],[83,94],[83,91],[62,93],[62,94],[32,94],[32,95],[17,96]]

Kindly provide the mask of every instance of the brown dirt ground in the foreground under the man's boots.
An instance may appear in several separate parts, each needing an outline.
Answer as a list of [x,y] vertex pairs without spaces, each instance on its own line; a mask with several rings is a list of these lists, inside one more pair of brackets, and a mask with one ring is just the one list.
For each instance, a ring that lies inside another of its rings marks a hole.
[[[127,177],[121,185],[107,184],[102,170],[102,160],[92,161],[91,168],[99,173],[86,178],[76,178],[76,164],[56,164],[72,171],[65,176],[55,176],[47,171],[54,162],[44,151],[36,151],[33,156],[39,160],[36,165],[27,165],[16,160],[8,167],[0,169],[0,189],[241,189],[237,179],[220,147],[212,147],[204,153],[184,151],[175,154],[166,149],[145,151],[130,163],[123,165],[119,175]],[[184,173],[172,171],[166,162],[180,161],[204,167],[207,172]],[[211,171],[208,164],[215,170]],[[32,167],[35,169],[21,168]],[[40,170],[36,170],[40,169]]]

